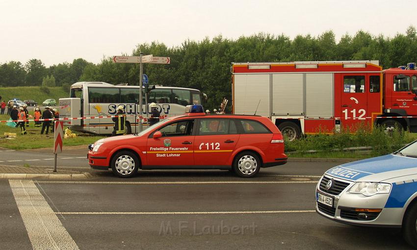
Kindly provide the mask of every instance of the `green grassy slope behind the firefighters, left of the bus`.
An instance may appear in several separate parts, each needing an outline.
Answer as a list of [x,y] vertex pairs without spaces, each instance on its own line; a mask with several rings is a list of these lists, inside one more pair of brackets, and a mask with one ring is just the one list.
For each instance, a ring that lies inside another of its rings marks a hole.
[[6,102],[13,98],[19,98],[21,101],[30,99],[30,100],[35,100],[35,102],[38,102],[39,106],[41,106],[42,102],[45,101],[46,99],[53,98],[56,100],[56,103],[58,104],[59,98],[70,97],[70,93],[68,91],[64,91],[62,87],[49,87],[49,90],[50,90],[50,93],[48,94],[42,91],[40,86],[1,87],[0,95],[1,95],[2,100]]

